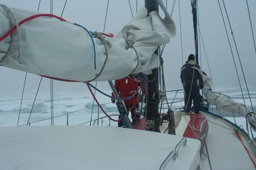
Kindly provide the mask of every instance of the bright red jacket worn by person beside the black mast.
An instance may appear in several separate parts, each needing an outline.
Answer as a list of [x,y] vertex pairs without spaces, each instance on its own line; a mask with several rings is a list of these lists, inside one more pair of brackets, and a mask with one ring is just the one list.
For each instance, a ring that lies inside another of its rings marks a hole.
[[[119,93],[119,98],[127,98],[133,95],[139,88],[142,82],[138,82],[138,87],[137,87],[137,82],[134,81],[133,79],[129,77],[125,77],[124,79],[116,80],[115,81],[115,88],[117,93]],[[146,92],[146,89],[144,89],[144,94]],[[133,105],[134,102],[136,101],[138,97],[139,92],[132,97],[131,99],[124,100],[125,105]],[[114,97],[114,94],[112,93],[112,96]]]

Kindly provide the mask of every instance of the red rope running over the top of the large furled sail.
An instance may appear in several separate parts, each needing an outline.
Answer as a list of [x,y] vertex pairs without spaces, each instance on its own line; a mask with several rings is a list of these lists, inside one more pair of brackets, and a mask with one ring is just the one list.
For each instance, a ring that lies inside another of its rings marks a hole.
[[[37,17],[54,17],[54,18],[57,18],[57,19],[59,19],[59,20],[61,20],[61,21],[68,22],[68,21],[66,21],[65,19],[60,18],[60,17],[58,17],[58,16],[56,16],[56,15],[53,15],[53,14],[36,14],[36,15],[32,15],[32,16],[30,16],[30,17],[28,17],[28,18],[26,18],[26,19],[20,21],[20,22],[18,23],[18,25],[20,26],[21,24],[23,24],[23,23],[25,23],[25,22],[27,22],[27,21],[33,19],[33,18],[37,18]],[[68,23],[71,23],[71,22],[68,22]],[[71,23],[71,24],[73,24],[73,23]],[[16,26],[13,26],[11,30],[9,30],[6,34],[4,34],[4,35],[0,38],[0,41],[2,41],[3,39],[5,39],[6,37],[8,37],[15,29],[16,29]],[[102,35],[105,35],[105,36],[108,36],[108,37],[113,37],[113,36],[114,36],[114,34],[111,34],[111,33],[109,33],[109,34],[101,33],[101,34],[102,34]]]

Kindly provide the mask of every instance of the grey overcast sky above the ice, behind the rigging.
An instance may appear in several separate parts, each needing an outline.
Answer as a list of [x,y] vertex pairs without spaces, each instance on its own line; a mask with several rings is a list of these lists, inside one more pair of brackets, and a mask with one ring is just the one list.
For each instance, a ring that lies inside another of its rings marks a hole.
[[[221,0],[220,0],[221,1]],[[130,0],[133,15],[136,13],[136,0]],[[166,3],[166,1],[164,0]],[[176,37],[172,38],[170,43],[166,45],[163,52],[165,81],[167,89],[181,89],[180,68],[182,66],[181,51],[181,31],[179,18],[179,1],[176,1],[172,18],[176,24]],[[222,1],[221,1],[222,2]],[[9,7],[22,8],[26,10],[37,11],[39,0],[1,0],[2,4]],[[90,31],[102,32],[104,28],[104,20],[106,14],[108,0],[68,0],[62,18],[69,22],[76,22],[86,27]],[[190,0],[181,0],[181,27],[183,42],[183,62],[187,60],[190,53],[195,53],[194,49],[194,32],[193,19],[191,13]],[[255,0],[248,0],[249,10],[252,19],[253,31],[256,34],[256,7]],[[53,14],[60,16],[65,0],[53,1]],[[222,3],[221,3],[222,4]],[[168,0],[167,9],[171,13],[173,0]],[[241,63],[244,69],[247,84],[255,86],[255,63],[256,54],[254,50],[252,32],[246,1],[243,0],[225,0],[225,5],[231,22],[231,27],[236,39]],[[138,10],[144,6],[144,0],[138,0]],[[205,50],[212,73],[215,88],[223,87],[239,87],[236,70],[228,44],[221,12],[219,10],[218,1],[202,1],[198,2],[199,7],[199,24]],[[222,4],[223,7],[223,4]],[[160,9],[160,8],[159,8]],[[222,8],[223,12],[224,7]],[[41,0],[40,12],[50,13],[50,0]],[[160,15],[164,17],[160,10]],[[106,19],[105,32],[116,34],[131,19],[131,12],[128,0],[109,0],[108,15]],[[231,31],[227,22],[226,14],[224,15],[226,26],[235,61],[238,67],[239,77],[242,85],[244,79],[242,76],[241,66],[238,55],[234,47]],[[0,35],[2,36],[2,35]],[[255,35],[256,36],[256,35]],[[200,52],[199,52],[200,53]],[[200,59],[199,59],[200,60]],[[201,40],[201,61],[199,65],[208,75],[209,68],[205,57],[205,52]],[[114,63],[113,63],[114,67]],[[10,68],[0,67],[0,89],[1,93],[8,91],[17,91],[22,93],[25,80],[25,72],[13,70]],[[26,81],[26,91],[37,89],[40,76],[28,73]],[[95,84],[95,83],[93,83]],[[107,82],[98,83],[98,87],[103,90],[110,90]],[[43,78],[40,90],[50,91],[50,80]],[[88,90],[84,83],[68,83],[54,81],[54,90]]]

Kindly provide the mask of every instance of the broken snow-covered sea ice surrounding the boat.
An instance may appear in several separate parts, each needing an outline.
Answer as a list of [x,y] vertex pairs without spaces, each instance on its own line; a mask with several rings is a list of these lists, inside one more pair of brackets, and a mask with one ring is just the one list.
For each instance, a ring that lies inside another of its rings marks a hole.
[[[231,99],[233,99],[236,102],[243,103],[241,91],[239,88],[216,89],[216,91],[230,96]],[[22,107],[20,110],[19,125],[27,124],[36,92],[37,90],[35,89],[32,89],[30,92],[26,92],[26,91],[24,92]],[[104,92],[106,94],[111,95],[111,91],[104,91]],[[243,90],[243,92],[245,96],[245,103],[248,106],[251,106],[246,90]],[[173,101],[173,97],[175,93],[176,91],[167,92],[168,102]],[[256,88],[250,87],[250,95],[252,98],[253,106],[255,107],[256,106]],[[0,102],[1,102],[0,126],[2,127],[17,126],[21,98],[22,98],[22,93],[12,94],[12,93],[2,92],[0,94]],[[54,118],[54,125],[67,125],[67,115],[66,115],[67,113],[70,113],[68,115],[69,125],[79,125],[83,123],[85,123],[84,125],[90,124],[91,112],[92,112],[91,107],[93,106],[93,97],[91,96],[88,90],[87,91],[71,91],[71,90],[70,91],[54,91],[53,98],[54,98],[53,114],[54,114],[54,117],[59,116]],[[106,111],[106,113],[108,113],[109,115],[118,112],[116,105],[111,103],[110,98],[100,94],[99,92],[96,92],[96,98],[101,105],[104,104],[102,105],[102,107]],[[184,98],[183,90],[181,90],[176,95],[174,102],[182,101],[183,98]],[[184,101],[177,102],[177,103],[173,103],[171,108],[177,109],[177,108],[181,108],[183,105],[184,105]],[[95,107],[93,109],[91,124],[93,124],[94,119],[96,119],[98,116],[98,106],[96,102],[94,102],[94,106]],[[216,113],[216,107],[215,108],[214,107],[213,107],[213,112]],[[167,105],[163,105],[161,108],[161,113],[166,113],[167,108],[168,108]],[[160,109],[160,106],[159,106],[159,109]],[[232,114],[225,113],[225,112],[222,112],[222,114],[225,118],[234,122]],[[102,116],[105,116],[105,115],[99,109],[99,117],[102,117]],[[113,118],[118,119],[117,116],[114,116]],[[131,114],[129,114],[129,118],[131,119]],[[44,120],[44,119],[48,119],[48,120]],[[245,118],[236,117],[235,119],[236,119],[236,123],[239,126],[242,125],[243,128],[246,130]],[[39,121],[39,120],[43,120],[43,121]],[[39,122],[34,122],[34,121],[39,121]],[[34,122],[30,124],[31,126],[51,125],[51,93],[50,91],[42,92],[39,90],[29,122]],[[108,118],[103,119],[102,125],[108,126],[109,123],[111,126],[117,126],[117,122],[113,122],[113,121],[110,122]],[[211,123],[209,122],[209,125],[210,124]],[[99,125],[101,125],[101,120],[99,120]]]

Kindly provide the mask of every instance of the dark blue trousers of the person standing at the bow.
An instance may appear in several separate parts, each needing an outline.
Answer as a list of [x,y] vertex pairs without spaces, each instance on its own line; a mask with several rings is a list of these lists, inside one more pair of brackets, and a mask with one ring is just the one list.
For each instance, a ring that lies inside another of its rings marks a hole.
[[184,90],[185,90],[185,107],[187,107],[186,108],[186,113],[189,113],[189,110],[190,110],[191,104],[192,104],[192,99],[193,99],[193,104],[194,104],[194,110],[195,110],[195,112],[199,113],[199,109],[200,109],[200,101],[199,101],[200,89],[199,89],[199,87],[192,87],[190,97],[189,97],[190,88],[191,88],[191,86],[185,86],[184,87]]

